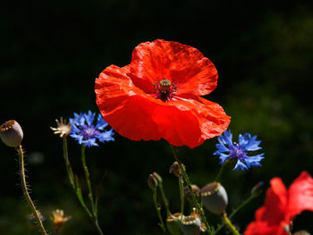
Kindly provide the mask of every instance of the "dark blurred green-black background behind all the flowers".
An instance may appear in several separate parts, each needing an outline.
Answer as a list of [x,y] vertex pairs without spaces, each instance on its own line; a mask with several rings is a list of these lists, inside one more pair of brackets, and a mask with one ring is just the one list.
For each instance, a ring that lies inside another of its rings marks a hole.
[[[313,173],[312,10],[310,1],[2,3],[0,122],[15,119],[21,124],[22,145],[30,160],[31,197],[47,217],[49,231],[53,231],[51,210],[62,208],[72,215],[63,234],[96,234],[66,178],[61,139],[49,127],[60,116],[68,119],[73,112],[97,112],[94,81],[99,72],[110,64],[130,63],[135,46],[157,38],[194,46],[215,63],[218,86],[207,99],[232,116],[235,138],[250,132],[262,140],[266,156],[262,167],[224,174],[229,213],[249,197],[259,180],[268,186],[270,179],[279,176],[290,185],[301,171]],[[155,171],[163,176],[171,209],[177,212],[178,185],[168,173],[171,149],[165,141],[114,137],[115,142],[87,151],[95,185],[107,171],[100,225],[106,234],[161,234],[147,177]],[[212,155],[216,141],[180,148],[191,180],[200,187],[219,169],[218,157]],[[80,147],[71,139],[69,148],[74,171],[82,177]],[[1,144],[0,157],[0,233],[36,234],[27,221],[30,212],[18,185],[16,154]],[[264,194],[234,219],[241,231],[263,200]],[[207,215],[210,222],[218,222]],[[309,230],[312,219],[311,213],[301,214],[295,229]]]

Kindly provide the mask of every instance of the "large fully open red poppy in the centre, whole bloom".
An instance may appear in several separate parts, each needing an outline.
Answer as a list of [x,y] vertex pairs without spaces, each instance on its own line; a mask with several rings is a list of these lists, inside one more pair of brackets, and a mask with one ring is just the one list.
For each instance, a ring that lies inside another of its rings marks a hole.
[[216,67],[198,49],[156,40],[137,46],[131,64],[102,71],[95,91],[100,112],[122,136],[197,147],[230,122],[220,105],[199,97],[216,83]]

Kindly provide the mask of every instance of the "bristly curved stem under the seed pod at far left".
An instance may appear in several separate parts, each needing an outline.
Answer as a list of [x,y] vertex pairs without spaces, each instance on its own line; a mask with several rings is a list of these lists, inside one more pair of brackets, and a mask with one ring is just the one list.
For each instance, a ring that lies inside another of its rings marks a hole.
[[47,232],[45,230],[44,225],[42,224],[38,211],[36,210],[36,207],[34,205],[34,203],[32,202],[31,198],[30,198],[30,194],[29,191],[27,189],[27,183],[26,183],[26,179],[25,179],[25,167],[24,167],[24,154],[23,154],[23,150],[21,149],[21,145],[19,147],[16,148],[17,153],[20,157],[20,166],[21,166],[21,189],[23,191],[23,194],[26,198],[27,203],[30,206],[30,209],[32,211],[32,214],[34,215],[36,221],[38,222],[38,227],[39,230],[41,231],[42,234],[47,235]]

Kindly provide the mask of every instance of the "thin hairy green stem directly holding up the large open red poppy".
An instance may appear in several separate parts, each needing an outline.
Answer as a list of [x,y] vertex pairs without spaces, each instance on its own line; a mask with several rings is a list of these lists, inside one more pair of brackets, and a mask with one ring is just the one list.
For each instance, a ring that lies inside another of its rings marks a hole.
[[173,147],[172,145],[171,145],[171,147],[172,147],[172,150],[173,150],[173,157],[175,158],[176,162],[177,162],[178,165],[180,166],[180,169],[181,169],[181,171],[182,171],[182,176],[183,176],[183,178],[185,179],[188,188],[190,189],[190,194],[191,194],[191,198],[192,198],[193,204],[196,206],[196,209],[197,209],[197,211],[199,212],[199,214],[201,215],[201,218],[202,218],[203,222],[206,224],[206,227],[207,227],[207,234],[212,235],[211,228],[210,228],[210,226],[209,226],[208,223],[207,223],[206,215],[203,213],[203,210],[202,210],[202,208],[201,208],[200,205],[199,205],[199,202],[198,202],[198,200],[197,200],[197,197],[196,197],[196,195],[195,195],[195,193],[194,193],[194,191],[193,191],[193,189],[192,189],[192,187],[191,187],[191,183],[190,183],[189,177],[188,177],[188,175],[187,175],[185,169],[184,169],[183,166],[182,166],[181,160],[180,160],[180,159],[178,158],[178,156],[177,156],[177,153],[176,153],[177,149],[176,149],[175,147]]

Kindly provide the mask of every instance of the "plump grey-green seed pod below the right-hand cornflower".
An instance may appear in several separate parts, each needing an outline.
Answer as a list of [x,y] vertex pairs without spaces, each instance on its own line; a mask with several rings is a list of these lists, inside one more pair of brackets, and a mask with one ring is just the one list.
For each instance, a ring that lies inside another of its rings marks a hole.
[[226,190],[219,182],[208,183],[200,192],[203,205],[211,213],[223,214],[228,204]]

